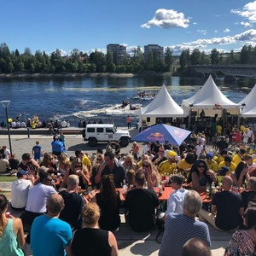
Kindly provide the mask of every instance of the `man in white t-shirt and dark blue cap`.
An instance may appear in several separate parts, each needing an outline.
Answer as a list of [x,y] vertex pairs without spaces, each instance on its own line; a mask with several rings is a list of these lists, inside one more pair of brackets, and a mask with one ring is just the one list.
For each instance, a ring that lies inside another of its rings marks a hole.
[[11,186],[10,206],[17,211],[24,211],[26,207],[27,195],[32,188],[32,182],[26,179],[27,171],[20,170],[17,172],[18,179]]

